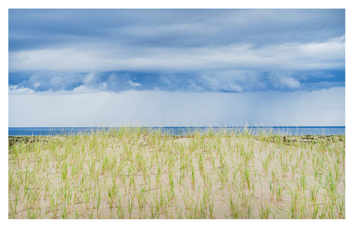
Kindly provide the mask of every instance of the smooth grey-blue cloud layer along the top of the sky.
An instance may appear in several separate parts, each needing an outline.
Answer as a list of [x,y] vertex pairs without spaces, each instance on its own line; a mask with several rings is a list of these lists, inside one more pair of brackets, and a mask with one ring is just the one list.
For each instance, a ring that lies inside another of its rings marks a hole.
[[203,47],[323,42],[345,34],[343,9],[10,9],[9,48],[96,40]]

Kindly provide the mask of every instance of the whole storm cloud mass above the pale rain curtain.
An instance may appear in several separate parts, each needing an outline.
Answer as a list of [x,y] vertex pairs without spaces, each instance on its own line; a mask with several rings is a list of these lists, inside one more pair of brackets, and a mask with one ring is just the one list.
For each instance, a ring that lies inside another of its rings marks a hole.
[[312,91],[344,68],[344,9],[9,10],[10,92]]

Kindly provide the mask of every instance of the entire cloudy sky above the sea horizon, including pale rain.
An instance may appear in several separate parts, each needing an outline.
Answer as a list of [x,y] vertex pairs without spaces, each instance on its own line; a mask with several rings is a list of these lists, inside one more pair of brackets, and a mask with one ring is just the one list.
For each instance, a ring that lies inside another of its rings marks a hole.
[[344,9],[9,9],[9,127],[345,125]]

